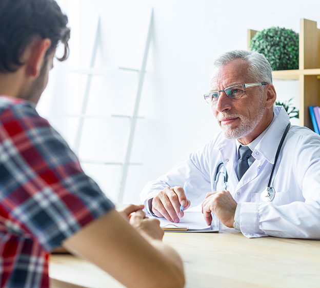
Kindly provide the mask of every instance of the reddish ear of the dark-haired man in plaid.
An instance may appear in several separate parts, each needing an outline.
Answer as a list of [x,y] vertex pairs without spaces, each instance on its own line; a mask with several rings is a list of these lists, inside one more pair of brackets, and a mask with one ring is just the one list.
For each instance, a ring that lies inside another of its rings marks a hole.
[[37,77],[39,75],[50,46],[51,40],[49,38],[36,38],[31,42],[26,61],[27,73],[30,76]]

